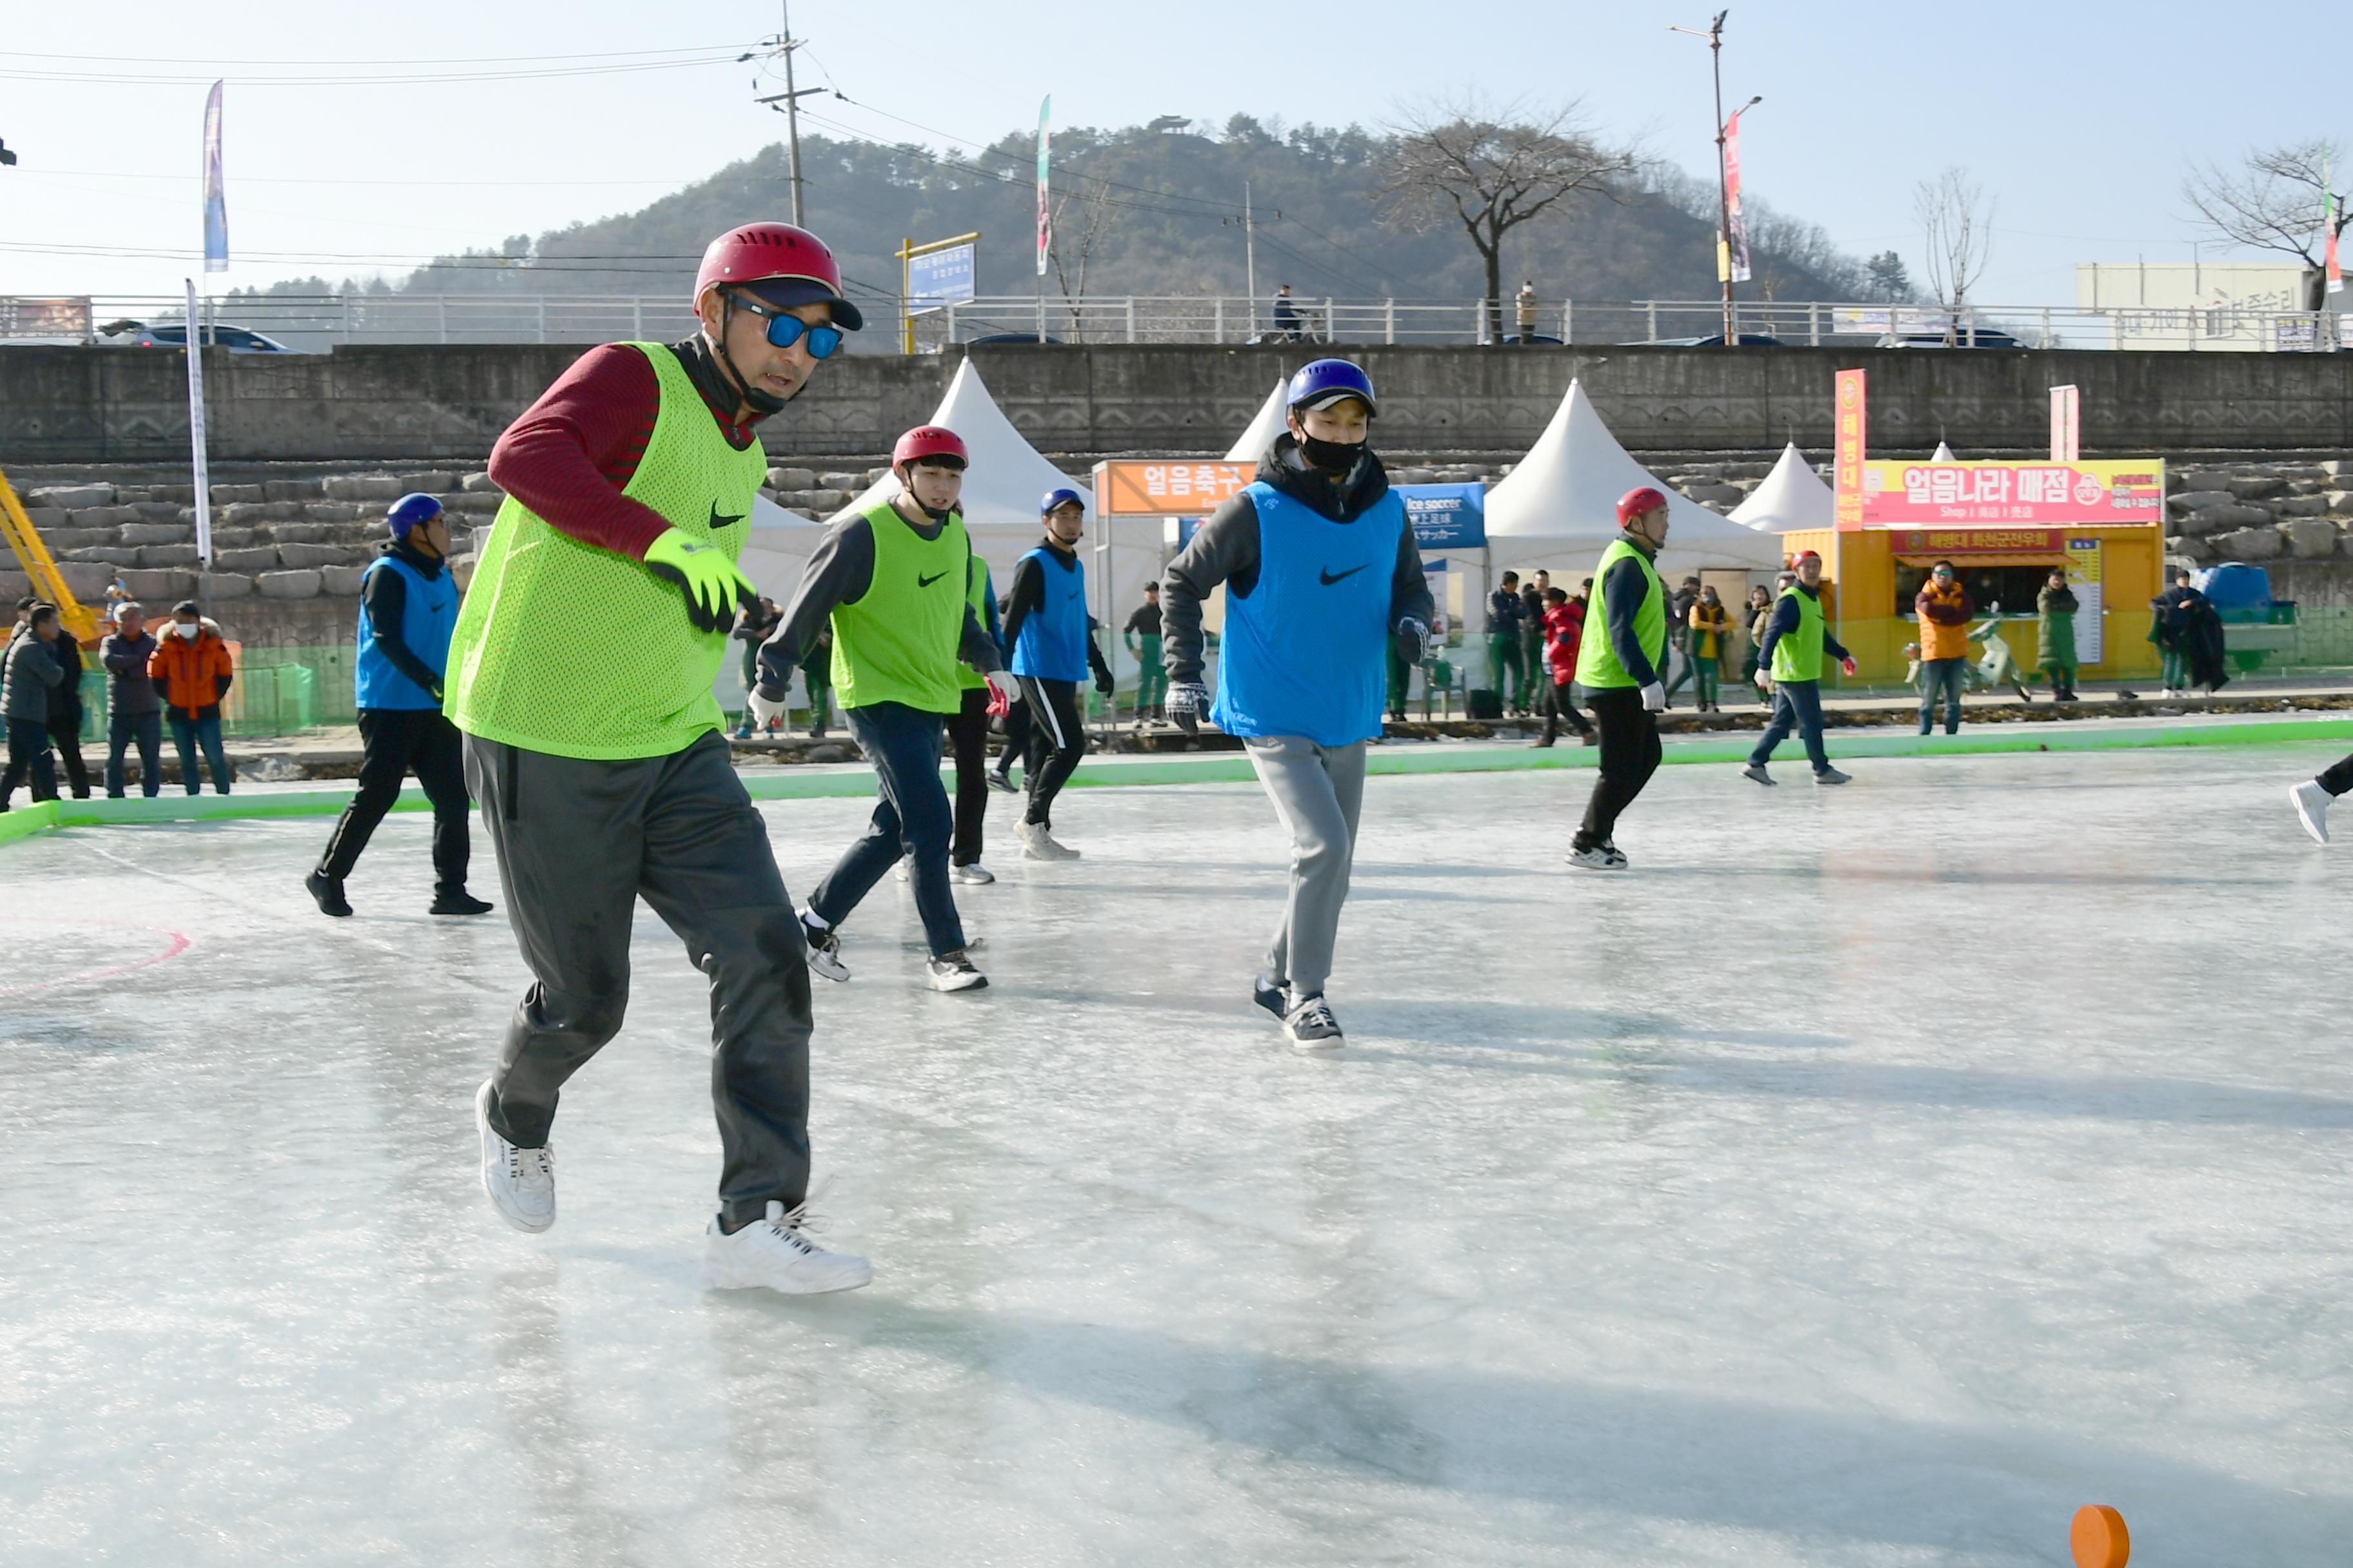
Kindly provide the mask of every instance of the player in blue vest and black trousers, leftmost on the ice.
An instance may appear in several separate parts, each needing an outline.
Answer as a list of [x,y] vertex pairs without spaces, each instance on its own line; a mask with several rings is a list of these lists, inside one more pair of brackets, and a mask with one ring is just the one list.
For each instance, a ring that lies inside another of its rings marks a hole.
[[402,773],[414,769],[433,802],[428,912],[487,914],[489,905],[466,891],[466,752],[440,710],[459,602],[449,578],[449,524],[440,501],[409,494],[393,501],[384,527],[393,538],[360,574],[360,792],[344,806],[327,856],[304,886],[320,914],[351,914],[344,879],[400,799]]

